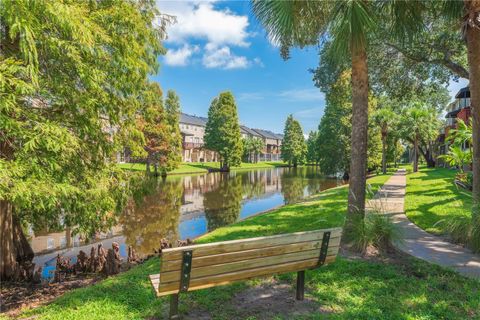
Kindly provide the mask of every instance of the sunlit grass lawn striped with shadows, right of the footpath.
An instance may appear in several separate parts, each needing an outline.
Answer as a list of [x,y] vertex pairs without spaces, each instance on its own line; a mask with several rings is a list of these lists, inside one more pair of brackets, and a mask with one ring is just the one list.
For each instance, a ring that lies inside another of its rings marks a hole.
[[453,184],[455,170],[420,168],[407,175],[405,211],[420,228],[435,234],[445,233],[442,220],[470,216],[470,192]]

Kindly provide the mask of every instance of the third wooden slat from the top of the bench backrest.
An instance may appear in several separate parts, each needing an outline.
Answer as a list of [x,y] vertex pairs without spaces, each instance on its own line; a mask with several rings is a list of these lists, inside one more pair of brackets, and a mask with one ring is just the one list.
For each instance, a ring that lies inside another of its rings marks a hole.
[[[329,249],[330,255],[336,254],[338,247]],[[222,264],[210,265],[205,267],[193,268],[190,273],[190,281],[197,278],[220,275],[241,270],[248,270],[266,266],[273,266],[287,262],[302,261],[308,259],[319,259],[320,250],[308,250],[281,254],[276,256],[261,257],[256,259],[240,260],[235,262],[227,262]],[[181,274],[178,270],[160,273],[160,282],[165,284],[168,282],[180,281]]]

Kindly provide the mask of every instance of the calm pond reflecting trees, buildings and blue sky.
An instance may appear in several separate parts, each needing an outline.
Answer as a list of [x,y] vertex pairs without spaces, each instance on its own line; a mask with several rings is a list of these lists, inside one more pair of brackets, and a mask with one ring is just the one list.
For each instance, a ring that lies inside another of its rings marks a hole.
[[75,257],[102,243],[120,245],[127,256],[128,246],[140,255],[152,254],[162,238],[170,241],[194,239],[216,228],[232,224],[272,208],[301,201],[309,195],[336,187],[343,181],[322,176],[318,168],[269,168],[169,176],[147,183],[147,195],[130,205],[119,225],[98,234],[88,244],[72,237],[69,230],[35,234],[31,237],[44,278],[53,275],[58,253]]

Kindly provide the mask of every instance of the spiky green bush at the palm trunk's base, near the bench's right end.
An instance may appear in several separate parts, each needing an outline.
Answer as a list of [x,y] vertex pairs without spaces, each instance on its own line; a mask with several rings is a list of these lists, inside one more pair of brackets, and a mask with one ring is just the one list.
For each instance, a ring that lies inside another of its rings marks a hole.
[[365,252],[369,246],[379,251],[390,251],[392,243],[401,239],[398,227],[381,211],[367,212],[363,221],[355,224],[352,235],[353,249]]

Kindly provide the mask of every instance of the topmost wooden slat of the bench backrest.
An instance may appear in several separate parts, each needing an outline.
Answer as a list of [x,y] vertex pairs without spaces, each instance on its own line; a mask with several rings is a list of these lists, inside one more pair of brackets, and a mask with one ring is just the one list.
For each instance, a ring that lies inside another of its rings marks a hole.
[[178,248],[164,249],[162,251],[162,261],[180,260],[184,250],[192,250],[193,256],[202,257],[208,255],[224,254],[235,251],[244,251],[265,247],[273,247],[291,243],[322,240],[323,233],[331,232],[331,238],[340,237],[342,229],[332,228],[305,232],[296,232],[289,234],[280,234],[275,236],[266,236],[258,238],[248,238],[232,241],[213,242],[200,245],[192,245]]

